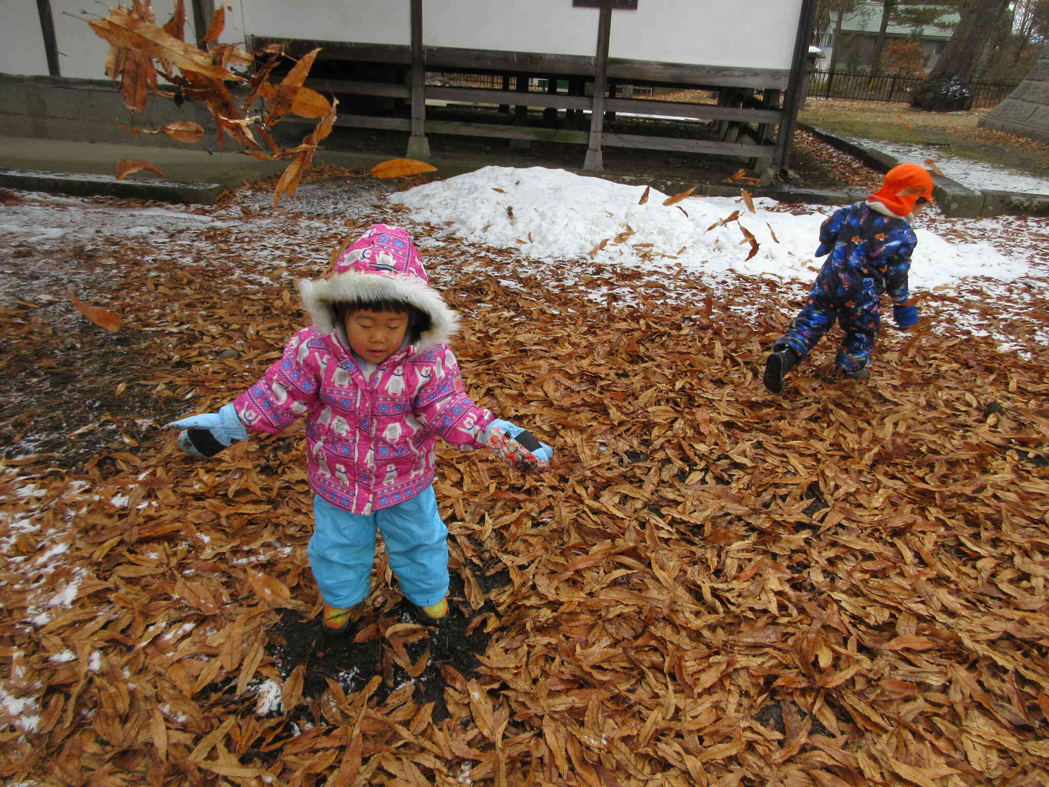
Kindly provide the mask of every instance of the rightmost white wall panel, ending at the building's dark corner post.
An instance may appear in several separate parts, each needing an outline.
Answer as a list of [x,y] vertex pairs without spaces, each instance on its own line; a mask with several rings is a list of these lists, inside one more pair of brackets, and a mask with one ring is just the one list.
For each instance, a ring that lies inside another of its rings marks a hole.
[[790,68],[800,16],[801,0],[639,0],[637,10],[612,13],[608,56],[737,68]]

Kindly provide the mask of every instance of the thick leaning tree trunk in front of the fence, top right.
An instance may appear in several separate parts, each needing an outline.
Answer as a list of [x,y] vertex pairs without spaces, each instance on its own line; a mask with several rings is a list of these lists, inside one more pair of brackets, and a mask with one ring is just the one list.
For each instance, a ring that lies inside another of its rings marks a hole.
[[915,88],[911,106],[932,112],[954,112],[972,106],[972,95],[965,85],[972,79],[994,23],[1008,5],[1009,0],[965,0],[959,6],[962,21],[928,79]]

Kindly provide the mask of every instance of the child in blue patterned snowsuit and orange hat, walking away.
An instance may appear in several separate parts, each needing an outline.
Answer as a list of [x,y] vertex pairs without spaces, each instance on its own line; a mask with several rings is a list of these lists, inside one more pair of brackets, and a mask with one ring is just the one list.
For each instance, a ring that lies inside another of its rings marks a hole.
[[881,189],[865,201],[834,212],[819,228],[816,256],[831,256],[813,282],[809,300],[787,333],[772,345],[765,362],[765,387],[783,390],[784,376],[834,324],[844,336],[834,359],[842,377],[865,380],[871,350],[881,323],[880,299],[889,293],[901,331],[918,322],[918,307],[907,304],[907,271],[918,238],[908,220],[933,197],[933,178],[917,164],[885,173]]

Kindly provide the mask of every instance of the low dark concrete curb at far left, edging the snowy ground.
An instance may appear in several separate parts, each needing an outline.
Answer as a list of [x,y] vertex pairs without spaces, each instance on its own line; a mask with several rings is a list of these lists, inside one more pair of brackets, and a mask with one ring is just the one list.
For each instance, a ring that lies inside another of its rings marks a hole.
[[224,187],[217,183],[177,183],[159,178],[117,180],[112,175],[0,169],[0,186],[72,196],[115,196],[188,205],[214,205]]

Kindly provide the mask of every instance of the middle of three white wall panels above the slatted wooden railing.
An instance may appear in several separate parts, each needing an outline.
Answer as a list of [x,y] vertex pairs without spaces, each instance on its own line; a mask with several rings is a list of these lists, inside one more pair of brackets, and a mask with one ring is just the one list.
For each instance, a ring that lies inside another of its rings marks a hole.
[[[679,0],[664,0],[671,1]],[[572,0],[423,0],[423,41],[427,46],[593,57],[598,14],[597,8],[574,8]]]

